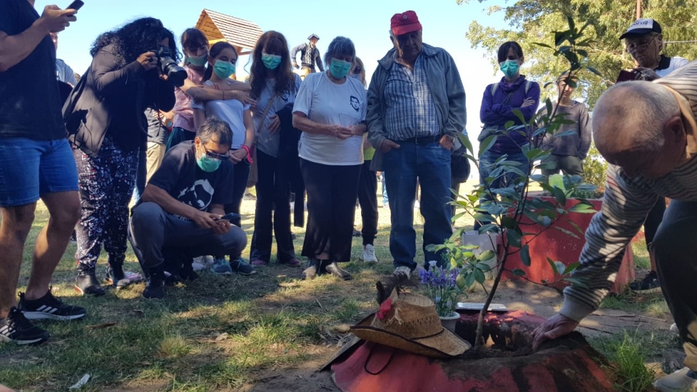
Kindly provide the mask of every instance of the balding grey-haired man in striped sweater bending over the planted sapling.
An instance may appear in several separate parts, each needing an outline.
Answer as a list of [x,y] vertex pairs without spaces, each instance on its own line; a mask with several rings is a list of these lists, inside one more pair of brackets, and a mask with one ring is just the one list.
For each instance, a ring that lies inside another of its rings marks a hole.
[[697,62],[663,79],[609,88],[592,117],[610,163],[602,212],[585,232],[573,276],[588,288],[564,290],[557,315],[533,332],[533,348],[573,331],[613,285],[623,253],[659,196],[672,199],[652,243],[661,289],[684,340],[685,368],[658,379],[660,391],[697,387]]

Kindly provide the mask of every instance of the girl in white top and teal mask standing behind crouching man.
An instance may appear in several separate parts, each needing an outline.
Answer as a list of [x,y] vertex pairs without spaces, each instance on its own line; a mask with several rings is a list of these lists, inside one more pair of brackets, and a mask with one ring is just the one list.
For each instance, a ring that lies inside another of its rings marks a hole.
[[[228,42],[217,42],[210,47],[208,54],[208,65],[204,73],[204,86],[212,86],[224,90],[224,86],[233,84],[235,81],[229,79],[235,73],[237,63],[237,50]],[[250,105],[243,104],[238,100],[210,100],[208,102],[192,101],[191,108],[194,109],[194,126],[198,129],[206,118],[215,117],[226,122],[232,130],[232,146],[230,146],[230,160],[235,164],[233,173],[232,201],[225,205],[225,213],[240,213],[240,205],[247,187],[247,178],[250,175],[250,148],[254,143],[254,123],[252,123],[252,112]],[[231,224],[241,227],[240,219],[231,219]],[[214,255],[217,256],[217,255]],[[254,274],[254,268],[242,260],[241,255],[229,255],[230,262],[223,257],[215,257],[211,272],[216,274],[231,274],[232,271],[238,274]]]

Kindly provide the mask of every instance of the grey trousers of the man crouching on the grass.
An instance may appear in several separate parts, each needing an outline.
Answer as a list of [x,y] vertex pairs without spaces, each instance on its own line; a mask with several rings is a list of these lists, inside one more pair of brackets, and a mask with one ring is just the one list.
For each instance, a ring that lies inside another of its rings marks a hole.
[[239,254],[247,246],[247,235],[237,226],[226,234],[199,227],[162,210],[157,203],[141,203],[133,208],[128,225],[128,240],[143,271],[158,267],[178,271],[181,262],[197,256]]

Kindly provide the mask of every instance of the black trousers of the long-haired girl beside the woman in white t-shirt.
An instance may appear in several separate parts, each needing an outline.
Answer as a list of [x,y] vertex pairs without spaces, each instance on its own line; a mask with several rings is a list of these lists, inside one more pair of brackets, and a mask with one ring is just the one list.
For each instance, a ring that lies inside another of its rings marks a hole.
[[[259,180],[256,182],[256,210],[250,260],[269,262],[271,244],[276,237],[277,261],[296,257],[291,236],[291,185],[279,178],[278,159],[256,150]],[[271,232],[273,230],[273,237]]]

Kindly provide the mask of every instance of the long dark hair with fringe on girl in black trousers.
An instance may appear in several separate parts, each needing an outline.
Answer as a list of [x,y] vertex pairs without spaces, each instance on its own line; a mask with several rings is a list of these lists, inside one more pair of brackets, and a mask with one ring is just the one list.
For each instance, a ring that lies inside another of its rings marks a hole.
[[[268,70],[261,61],[261,53],[280,54],[281,63],[273,71]],[[276,85],[274,93],[283,95],[286,91],[294,91],[296,85],[295,74],[291,68],[291,54],[288,52],[288,42],[282,33],[278,31],[266,31],[256,42],[252,53],[252,70],[250,71],[250,84],[252,91],[250,96],[255,100],[259,99],[261,91],[266,88],[266,77],[269,72],[276,72]]]

